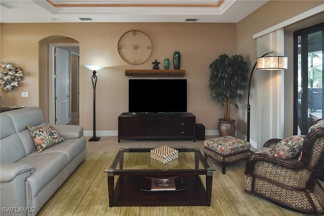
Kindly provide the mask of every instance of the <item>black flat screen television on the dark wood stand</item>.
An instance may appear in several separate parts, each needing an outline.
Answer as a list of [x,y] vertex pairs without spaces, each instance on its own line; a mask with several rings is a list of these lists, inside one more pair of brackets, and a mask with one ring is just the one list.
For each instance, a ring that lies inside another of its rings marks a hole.
[[187,80],[130,79],[129,112],[187,112]]

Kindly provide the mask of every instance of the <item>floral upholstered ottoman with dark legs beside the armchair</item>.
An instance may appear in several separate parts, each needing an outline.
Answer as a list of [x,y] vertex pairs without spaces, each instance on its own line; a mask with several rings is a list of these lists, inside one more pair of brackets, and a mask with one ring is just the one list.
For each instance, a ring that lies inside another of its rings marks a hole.
[[248,141],[234,137],[221,136],[205,140],[204,155],[222,164],[222,173],[225,174],[226,164],[248,159],[251,144]]

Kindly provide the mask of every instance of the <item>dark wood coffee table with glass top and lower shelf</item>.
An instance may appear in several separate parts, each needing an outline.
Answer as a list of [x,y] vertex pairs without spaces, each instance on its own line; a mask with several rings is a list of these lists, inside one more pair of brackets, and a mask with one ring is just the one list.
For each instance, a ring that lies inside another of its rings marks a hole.
[[[200,150],[172,147],[178,158],[164,164],[150,157],[154,148],[120,148],[115,154],[105,169],[109,206],[210,206],[215,169]],[[155,190],[156,181],[174,183],[170,190]]]

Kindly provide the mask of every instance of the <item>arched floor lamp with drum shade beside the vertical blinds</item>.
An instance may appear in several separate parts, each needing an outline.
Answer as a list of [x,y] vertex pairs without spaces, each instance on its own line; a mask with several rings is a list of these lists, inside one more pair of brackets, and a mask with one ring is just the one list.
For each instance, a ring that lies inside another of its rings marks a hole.
[[[271,53],[271,56],[266,56]],[[249,91],[248,91],[248,114],[247,114],[247,141],[250,142],[250,115],[251,115],[251,106],[250,106],[250,87],[252,75],[255,67],[260,70],[285,70],[288,68],[288,57],[286,56],[272,56],[273,52],[268,52],[261,57],[257,58],[252,72],[250,75],[249,81]]]

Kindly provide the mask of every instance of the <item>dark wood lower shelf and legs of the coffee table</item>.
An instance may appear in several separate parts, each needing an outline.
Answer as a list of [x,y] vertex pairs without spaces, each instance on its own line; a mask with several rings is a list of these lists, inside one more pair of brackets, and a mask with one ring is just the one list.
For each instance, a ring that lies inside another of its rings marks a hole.
[[[213,176],[206,176],[208,192],[201,183],[199,175],[182,177],[185,190],[152,192],[141,190],[141,175],[119,175],[115,188],[108,188],[109,199],[112,198],[112,201],[109,200],[109,206],[210,206]],[[111,184],[113,186],[113,181],[114,177],[108,176],[108,187]]]

